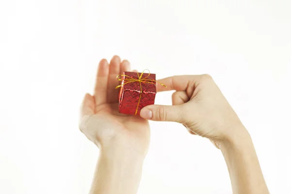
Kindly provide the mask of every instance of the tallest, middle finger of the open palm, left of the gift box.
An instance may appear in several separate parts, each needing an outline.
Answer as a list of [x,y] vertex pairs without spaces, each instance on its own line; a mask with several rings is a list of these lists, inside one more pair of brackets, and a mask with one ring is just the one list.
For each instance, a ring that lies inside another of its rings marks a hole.
[[120,74],[120,58],[119,56],[113,56],[109,65],[109,77],[108,77],[108,88],[107,96],[108,103],[118,102],[118,89],[115,89],[119,85],[119,81],[116,79],[116,76]]

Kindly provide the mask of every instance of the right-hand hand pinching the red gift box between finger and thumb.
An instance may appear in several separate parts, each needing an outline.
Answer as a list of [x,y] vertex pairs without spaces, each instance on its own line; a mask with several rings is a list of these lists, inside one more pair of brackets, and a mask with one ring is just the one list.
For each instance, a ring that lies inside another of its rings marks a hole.
[[210,139],[217,148],[226,139],[248,134],[210,75],[173,76],[159,82],[167,88],[157,85],[158,91],[177,90],[172,95],[173,106],[146,106],[141,117],[182,123],[190,133]]

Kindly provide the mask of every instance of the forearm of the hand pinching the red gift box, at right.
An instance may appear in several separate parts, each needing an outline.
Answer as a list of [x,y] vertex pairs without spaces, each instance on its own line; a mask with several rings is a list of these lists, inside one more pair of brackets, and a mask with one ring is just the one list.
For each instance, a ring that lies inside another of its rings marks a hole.
[[240,131],[220,146],[233,194],[269,194],[251,137],[244,128]]

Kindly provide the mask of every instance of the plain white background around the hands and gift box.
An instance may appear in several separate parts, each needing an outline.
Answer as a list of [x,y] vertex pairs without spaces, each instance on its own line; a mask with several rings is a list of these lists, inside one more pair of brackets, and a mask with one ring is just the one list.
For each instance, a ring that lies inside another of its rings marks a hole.
[[[78,129],[97,63],[209,73],[249,130],[269,190],[291,193],[290,0],[1,0],[0,194],[86,194],[97,147]],[[156,104],[171,104],[159,93]],[[151,122],[139,194],[230,194],[222,154]]]

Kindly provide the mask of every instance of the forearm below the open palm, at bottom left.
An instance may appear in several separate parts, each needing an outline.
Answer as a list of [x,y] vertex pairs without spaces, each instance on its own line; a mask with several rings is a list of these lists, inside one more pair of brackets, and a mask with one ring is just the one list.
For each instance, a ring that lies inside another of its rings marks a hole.
[[123,150],[100,150],[90,194],[136,194],[143,158]]

